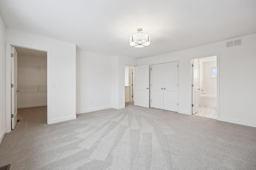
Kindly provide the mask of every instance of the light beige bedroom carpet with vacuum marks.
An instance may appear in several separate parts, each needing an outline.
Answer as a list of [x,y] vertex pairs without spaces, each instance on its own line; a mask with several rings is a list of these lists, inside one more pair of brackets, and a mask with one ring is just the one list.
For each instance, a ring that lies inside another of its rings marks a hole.
[[19,109],[0,145],[11,170],[256,169],[256,128],[154,108],[106,109],[46,124],[46,107]]

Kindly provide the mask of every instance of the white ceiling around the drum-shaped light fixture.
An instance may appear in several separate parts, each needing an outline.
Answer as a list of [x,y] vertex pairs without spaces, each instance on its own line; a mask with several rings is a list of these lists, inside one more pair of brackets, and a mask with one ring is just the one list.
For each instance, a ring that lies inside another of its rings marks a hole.
[[[6,27],[136,59],[256,33],[256,0],[0,0],[0,15]],[[138,27],[148,47],[130,47]]]

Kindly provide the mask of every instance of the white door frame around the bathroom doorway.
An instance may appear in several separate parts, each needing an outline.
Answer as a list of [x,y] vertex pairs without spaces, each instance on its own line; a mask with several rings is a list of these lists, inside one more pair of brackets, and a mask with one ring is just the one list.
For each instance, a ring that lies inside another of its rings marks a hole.
[[216,119],[220,120],[220,53],[212,53],[212,54],[208,54],[208,55],[200,55],[200,56],[196,56],[196,57],[190,57],[189,58],[189,89],[190,89],[190,111],[189,114],[192,115],[192,60],[193,59],[200,59],[200,58],[204,58],[204,57],[211,57],[211,56],[216,56],[216,64],[217,64],[217,106],[216,106]]

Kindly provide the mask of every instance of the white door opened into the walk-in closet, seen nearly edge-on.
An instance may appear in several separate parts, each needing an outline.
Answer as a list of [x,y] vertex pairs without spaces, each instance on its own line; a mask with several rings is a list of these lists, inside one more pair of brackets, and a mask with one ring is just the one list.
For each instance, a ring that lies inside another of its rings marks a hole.
[[13,57],[11,57],[11,110],[12,110],[12,129],[14,129],[17,123],[17,51],[14,47],[11,47],[11,53]]

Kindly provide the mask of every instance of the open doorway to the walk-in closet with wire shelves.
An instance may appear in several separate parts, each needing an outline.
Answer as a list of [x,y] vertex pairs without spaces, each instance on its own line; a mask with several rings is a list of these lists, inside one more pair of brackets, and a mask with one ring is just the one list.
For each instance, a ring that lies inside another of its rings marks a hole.
[[47,52],[12,46],[16,57],[11,129],[47,123]]

